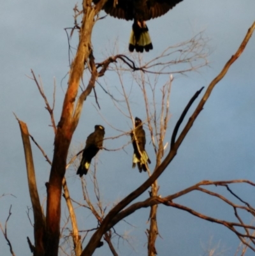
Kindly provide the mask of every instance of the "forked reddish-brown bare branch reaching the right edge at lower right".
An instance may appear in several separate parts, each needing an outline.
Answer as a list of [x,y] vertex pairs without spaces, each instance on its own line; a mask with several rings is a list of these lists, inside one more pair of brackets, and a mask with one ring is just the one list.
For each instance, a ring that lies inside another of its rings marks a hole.
[[[224,225],[225,227],[228,227],[231,231],[233,231],[240,241],[244,243],[244,245],[248,246],[255,252],[255,236],[254,236],[254,230],[255,227],[252,225],[246,225],[240,215],[238,214],[238,210],[240,211],[246,211],[247,213],[251,213],[251,215],[254,216],[255,209],[252,206],[242,206],[235,204],[234,202],[231,202],[231,200],[227,199],[226,197],[222,196],[219,193],[211,192],[210,190],[206,190],[205,188],[202,188],[201,186],[226,186],[228,187],[230,184],[235,183],[246,183],[253,187],[255,187],[255,183],[252,183],[251,181],[247,180],[233,180],[233,181],[201,181],[200,183],[194,184],[194,186],[191,186],[189,188],[186,188],[185,190],[182,190],[180,192],[177,192],[173,195],[168,195],[167,197],[150,197],[149,199],[144,200],[143,202],[136,202],[135,204],[132,204],[128,208],[121,211],[118,215],[116,215],[111,222],[108,225],[108,229],[112,228],[116,223],[120,222],[120,220],[123,220],[126,218],[126,216],[131,215],[138,209],[144,208],[144,207],[151,207],[157,204],[164,204],[165,206],[171,206],[178,209],[181,209],[183,211],[187,211],[188,213],[191,213],[194,216],[197,216],[198,218],[201,218],[203,220],[207,220],[209,222],[219,223],[221,225]],[[223,200],[233,208],[233,211],[235,213],[235,216],[237,217],[238,222],[229,222],[228,220],[220,220],[219,218],[213,218],[211,216],[203,215],[202,213],[199,213],[198,211],[194,211],[194,209],[191,209],[190,207],[186,207],[180,204],[176,204],[173,202],[174,199],[177,199],[183,195],[187,195],[187,193],[191,193],[195,190],[198,190],[202,193],[207,193],[208,195],[217,197],[220,200]],[[230,188],[228,188],[228,192],[230,192]],[[230,192],[231,193],[231,192]],[[233,193],[233,192],[232,192]],[[231,194],[232,194],[231,193]],[[240,197],[239,197],[240,199]],[[240,199],[240,201],[245,204],[244,200]],[[240,232],[240,228],[244,229],[244,232]],[[250,232],[252,230],[252,232]],[[252,233],[252,234],[251,234]],[[249,239],[249,240],[247,240]],[[253,246],[252,246],[253,245]]]

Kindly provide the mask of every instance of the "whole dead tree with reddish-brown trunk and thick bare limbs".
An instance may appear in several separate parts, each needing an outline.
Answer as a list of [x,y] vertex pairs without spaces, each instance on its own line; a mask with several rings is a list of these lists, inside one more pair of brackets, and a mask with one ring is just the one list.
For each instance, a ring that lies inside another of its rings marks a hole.
[[[78,26],[77,24],[75,24],[75,28],[74,28],[74,29],[78,29],[79,31],[78,49],[75,54],[75,58],[71,62],[70,71],[69,71],[68,88],[66,89],[64,102],[62,104],[61,117],[57,124],[55,124],[55,119],[53,114],[54,107],[50,107],[50,105],[47,102],[47,98],[45,98],[45,104],[50,116],[52,117],[52,126],[55,132],[54,156],[52,158],[52,161],[49,161],[51,164],[51,170],[50,170],[50,177],[49,177],[48,183],[46,184],[47,186],[46,216],[44,216],[44,213],[41,210],[40,199],[38,197],[38,191],[36,188],[36,177],[34,174],[33,155],[31,151],[31,145],[30,145],[30,139],[29,139],[30,135],[25,123],[18,120],[18,123],[20,124],[20,130],[22,133],[22,140],[24,144],[25,160],[27,165],[27,177],[29,182],[29,193],[30,193],[31,202],[33,206],[33,213],[34,213],[34,251],[33,251],[34,256],[38,256],[38,255],[57,256],[58,255],[59,237],[61,234],[60,220],[61,220],[62,188],[64,188],[64,197],[67,203],[69,204],[68,189],[66,187],[66,183],[64,183],[64,174],[66,172],[68,149],[71,144],[73,133],[77,128],[78,121],[80,119],[80,114],[83,109],[83,104],[87,96],[91,94],[92,89],[94,89],[96,80],[98,79],[98,77],[103,76],[106,70],[110,68],[111,64],[115,63],[116,61],[121,61],[126,68],[131,69],[134,72],[140,70],[142,72],[153,73],[154,72],[153,68],[158,65],[159,58],[154,59],[154,61],[151,61],[143,66],[140,66],[139,64],[135,63],[135,61],[133,61],[130,57],[125,56],[123,54],[117,54],[115,56],[108,57],[107,59],[105,59],[105,61],[101,63],[95,62],[93,52],[92,52],[91,34],[92,34],[92,29],[94,27],[94,24],[99,19],[99,16],[98,16],[99,11],[101,10],[103,4],[106,3],[106,1],[107,0],[101,0],[96,5],[94,5],[90,0],[84,0],[82,3],[82,11],[80,11],[80,15],[82,15],[81,26]],[[193,99],[191,99],[191,102],[187,104],[187,107],[184,110],[184,113],[180,117],[177,125],[175,126],[175,130],[171,138],[170,151],[168,152],[168,154],[166,154],[164,160],[161,163],[158,163],[156,165],[156,169],[154,170],[152,175],[140,187],[138,187],[134,192],[130,193],[127,197],[122,199],[116,206],[114,206],[109,211],[107,215],[103,216],[104,218],[103,220],[101,220],[98,229],[96,230],[96,232],[94,232],[89,243],[87,244],[87,246],[84,248],[82,252],[81,252],[82,248],[80,246],[80,237],[78,235],[77,228],[75,227],[76,226],[75,218],[72,219],[72,223],[74,224],[73,225],[73,230],[74,230],[73,242],[75,244],[75,248],[77,248],[77,250],[75,251],[77,256],[92,255],[94,253],[94,250],[96,250],[96,248],[98,247],[101,241],[101,238],[103,236],[105,236],[106,241],[109,241],[111,236],[110,229],[112,229],[112,227],[114,227],[116,223],[118,223],[120,220],[130,215],[134,211],[140,209],[141,207],[152,207],[152,206],[157,206],[158,204],[163,204],[165,206],[170,206],[170,207],[176,207],[183,211],[187,211],[195,216],[198,216],[199,218],[203,218],[210,222],[220,223],[221,225],[224,225],[228,227],[228,229],[235,232],[235,234],[237,234],[237,236],[240,238],[241,241],[243,241],[243,243],[245,243],[244,241],[245,237],[248,237],[249,239],[251,239],[252,245],[247,244],[247,246],[249,246],[250,248],[252,248],[252,250],[255,251],[255,248],[254,248],[255,237],[253,237],[250,234],[251,233],[250,229],[254,229],[254,227],[243,223],[242,220],[240,220],[238,213],[237,213],[237,218],[239,220],[239,223],[227,222],[225,220],[217,220],[205,215],[201,215],[200,213],[197,213],[193,209],[190,209],[188,207],[185,207],[173,202],[173,200],[177,197],[180,197],[180,195],[185,195],[186,193],[189,193],[193,190],[199,190],[203,193],[207,193],[214,197],[218,197],[221,200],[224,200],[224,202],[226,202],[227,204],[230,204],[235,210],[244,209],[245,211],[249,211],[249,213],[254,215],[254,209],[251,206],[245,206],[245,207],[237,206],[229,202],[227,199],[224,199],[224,197],[222,197],[221,195],[217,193],[212,193],[209,190],[201,188],[202,185],[207,186],[211,184],[217,184],[218,186],[226,186],[226,188],[228,188],[228,184],[237,183],[237,182],[244,182],[254,186],[254,183],[251,183],[250,181],[219,181],[214,183],[210,181],[202,181],[201,183],[195,184],[194,186],[187,188],[182,192],[176,193],[174,195],[168,195],[163,198],[157,196],[156,193],[152,192],[152,196],[149,197],[147,200],[144,200],[143,202],[131,204],[133,200],[135,200],[143,192],[145,192],[145,190],[147,190],[150,186],[152,186],[152,184],[156,184],[157,177],[159,177],[164,171],[164,169],[166,169],[166,167],[171,163],[171,160],[173,160],[173,158],[177,154],[180,144],[186,137],[187,132],[189,132],[191,126],[196,120],[196,117],[198,116],[198,114],[200,114],[201,110],[203,109],[203,106],[205,105],[205,102],[210,96],[212,89],[214,89],[217,82],[219,82],[224,77],[224,75],[226,75],[226,72],[230,68],[231,64],[240,56],[240,54],[242,54],[243,50],[245,49],[245,46],[247,45],[247,42],[249,41],[249,38],[251,38],[251,35],[254,29],[255,29],[255,23],[249,29],[237,53],[231,57],[230,61],[228,61],[228,63],[226,63],[226,66],[224,66],[222,72],[217,77],[215,77],[212,83],[208,86],[208,89],[205,92],[200,103],[198,104],[198,107],[196,108],[192,116],[189,118],[189,121],[187,122],[182,132],[180,132],[179,137],[177,137],[177,134],[178,134],[177,132],[179,131],[180,124],[182,123],[184,116],[186,116],[187,114],[187,110],[189,110],[189,107],[191,106],[191,104],[194,102],[194,100],[196,99],[196,97],[201,91],[198,91],[198,93],[194,94],[194,97]],[[168,53],[163,52],[163,55],[161,57],[166,57],[166,56],[169,56]],[[164,63],[164,68],[157,71],[156,73],[169,73],[169,71],[165,72],[165,70],[167,66],[169,66],[170,64],[174,64],[174,63],[170,63],[169,61],[166,61]],[[89,81],[87,82],[87,86],[85,87],[85,90],[80,95],[78,95],[78,89],[83,77],[84,69],[89,70],[90,78],[89,78]],[[191,66],[189,70],[193,70],[193,69],[194,67]],[[36,77],[34,76],[34,73],[33,73],[33,79],[36,82]],[[38,86],[38,89],[39,90],[41,89],[40,85]],[[43,92],[40,91],[40,93],[43,96]],[[155,185],[155,188],[156,187],[157,186]],[[129,204],[131,205],[128,206]],[[72,211],[71,209],[72,209],[72,206],[71,204],[69,204],[70,215]],[[75,217],[75,215],[73,216]],[[245,234],[238,232],[236,227],[243,227],[245,230]],[[153,253],[151,253],[150,255],[153,255]]]

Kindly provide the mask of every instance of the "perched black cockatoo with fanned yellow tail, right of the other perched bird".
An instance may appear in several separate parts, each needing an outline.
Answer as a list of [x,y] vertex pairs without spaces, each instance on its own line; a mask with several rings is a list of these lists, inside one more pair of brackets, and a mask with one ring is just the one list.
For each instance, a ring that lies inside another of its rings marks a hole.
[[135,118],[135,130],[131,133],[131,140],[134,147],[132,167],[135,168],[137,163],[139,171],[142,172],[142,170],[144,170],[146,172],[147,162],[150,163],[150,158],[145,151],[145,132],[143,130],[142,121],[138,117]]

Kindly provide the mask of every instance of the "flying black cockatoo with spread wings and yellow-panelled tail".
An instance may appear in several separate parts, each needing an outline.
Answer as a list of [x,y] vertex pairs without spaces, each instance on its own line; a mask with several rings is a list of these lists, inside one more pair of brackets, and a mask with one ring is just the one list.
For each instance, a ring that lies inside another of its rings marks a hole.
[[[164,15],[181,1],[182,0],[108,0],[103,6],[103,10],[118,19],[134,20],[129,40],[129,50],[130,52],[133,52],[133,50],[143,52],[143,49],[145,49],[146,52],[149,52],[153,47],[145,21]],[[97,4],[99,0],[93,0],[93,2]]]

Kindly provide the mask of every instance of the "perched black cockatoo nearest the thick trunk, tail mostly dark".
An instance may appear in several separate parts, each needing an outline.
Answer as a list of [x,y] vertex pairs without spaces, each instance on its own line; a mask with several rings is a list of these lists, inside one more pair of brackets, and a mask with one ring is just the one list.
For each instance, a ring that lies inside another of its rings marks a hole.
[[99,149],[103,146],[104,136],[105,128],[101,125],[95,125],[95,131],[87,137],[84,153],[82,154],[82,161],[77,170],[77,174],[79,174],[80,177],[82,177],[83,174],[87,174],[92,158],[96,156]]

